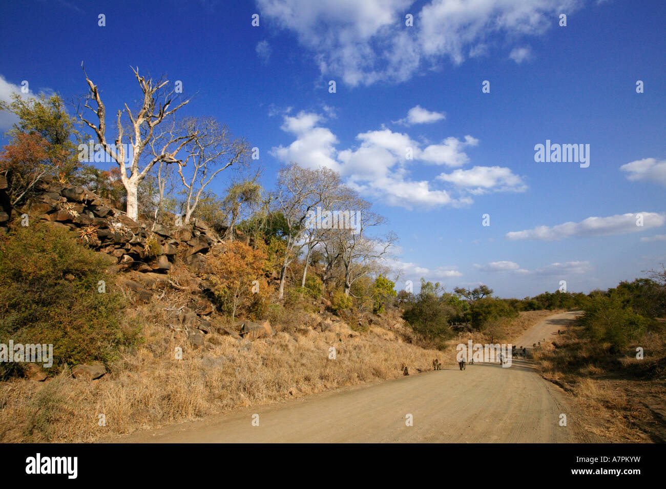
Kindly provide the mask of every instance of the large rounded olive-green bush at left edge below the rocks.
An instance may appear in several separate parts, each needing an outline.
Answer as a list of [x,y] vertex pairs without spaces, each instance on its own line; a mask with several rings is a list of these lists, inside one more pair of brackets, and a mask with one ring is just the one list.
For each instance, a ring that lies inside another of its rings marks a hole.
[[[138,331],[123,324],[123,296],[105,274],[110,258],[67,230],[18,227],[0,240],[0,343],[53,344],[53,365],[108,363]],[[105,280],[106,292],[98,292]],[[0,377],[23,364],[0,364]]]

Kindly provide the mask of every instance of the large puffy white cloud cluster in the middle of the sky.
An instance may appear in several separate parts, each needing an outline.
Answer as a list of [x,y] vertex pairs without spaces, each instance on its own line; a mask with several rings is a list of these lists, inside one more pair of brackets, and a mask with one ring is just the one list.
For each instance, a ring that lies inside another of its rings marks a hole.
[[[468,163],[464,149],[479,142],[470,135],[463,139],[448,137],[439,145],[421,149],[420,143],[406,133],[382,127],[356,135],[358,146],[338,150],[338,139],[330,129],[322,127],[324,121],[322,115],[314,112],[283,115],[281,129],[296,139],[287,147],[272,148],[270,154],[283,163],[294,161],[306,168],[324,166],[338,171],[352,189],[407,209],[442,205],[464,207],[473,202],[469,195],[524,189],[520,177],[499,167],[475,167],[469,171],[471,173],[462,173],[459,177],[454,173],[454,177],[439,179],[453,189],[438,189],[428,179],[410,177],[410,169],[418,164],[458,167]],[[459,195],[452,195],[451,190]]]

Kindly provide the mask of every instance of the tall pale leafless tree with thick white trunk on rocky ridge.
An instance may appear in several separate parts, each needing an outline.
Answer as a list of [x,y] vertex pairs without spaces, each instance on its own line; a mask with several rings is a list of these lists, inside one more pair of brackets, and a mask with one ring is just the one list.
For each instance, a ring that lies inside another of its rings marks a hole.
[[[81,63],[81,68],[83,69],[83,63]],[[99,146],[99,149],[109,155],[120,167],[121,181],[127,191],[127,216],[137,219],[139,217],[139,183],[156,163],[178,163],[180,160],[176,158],[176,155],[192,141],[195,135],[162,131],[157,151],[153,151],[152,155],[143,159],[143,169],[139,167],[145,147],[157,137],[156,128],[165,119],[172,118],[176,111],[186,105],[190,99],[179,100],[179,96],[172,89],[167,88],[168,80],[153,81],[151,78],[146,79],[139,75],[139,68],[132,68],[132,71],[139,82],[143,101],[140,102],[140,107],[135,113],[129,109],[127,103],[124,110],[118,111],[118,133],[114,143],[109,144],[107,141],[106,109],[97,85],[91,81],[85,69],[83,69],[83,74],[90,93],[83,99],[83,106],[79,103],[77,113],[79,119],[95,132],[99,142],[99,145],[95,145],[96,150]],[[91,101],[95,101],[97,104],[96,109],[91,107]],[[172,107],[174,104],[176,105]],[[97,124],[84,117],[84,109],[89,109],[97,115]],[[126,116],[125,121],[123,115]],[[125,133],[125,123],[128,128],[127,134]]]

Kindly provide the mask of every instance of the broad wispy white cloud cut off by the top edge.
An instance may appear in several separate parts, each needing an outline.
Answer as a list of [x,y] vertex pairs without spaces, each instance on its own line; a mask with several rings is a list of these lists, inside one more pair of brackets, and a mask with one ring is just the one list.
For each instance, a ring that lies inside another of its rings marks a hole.
[[[489,46],[529,55],[523,38],[550,29],[582,0],[257,0],[261,15],[296,35],[322,75],[348,85],[406,81],[445,61],[460,64]],[[406,27],[405,15],[414,15]],[[499,48],[497,46],[500,46]],[[527,53],[527,54],[526,54]]]

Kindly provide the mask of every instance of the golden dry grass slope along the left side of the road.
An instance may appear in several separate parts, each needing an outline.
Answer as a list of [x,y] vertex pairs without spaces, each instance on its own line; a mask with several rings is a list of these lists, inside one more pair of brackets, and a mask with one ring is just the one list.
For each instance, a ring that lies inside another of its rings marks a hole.
[[[150,310],[143,313],[151,317]],[[46,382],[0,384],[0,441],[91,442],[238,406],[396,378],[403,363],[413,374],[430,369],[437,354],[402,342],[390,330],[358,334],[341,322],[326,332],[281,331],[254,342],[211,334],[216,344],[210,350],[193,350],[182,333],[152,319],[146,344],[99,380],[74,379],[65,370]],[[183,348],[182,360],[174,358],[176,346]],[[328,358],[331,346],[335,360]],[[106,426],[100,426],[101,414]]]

